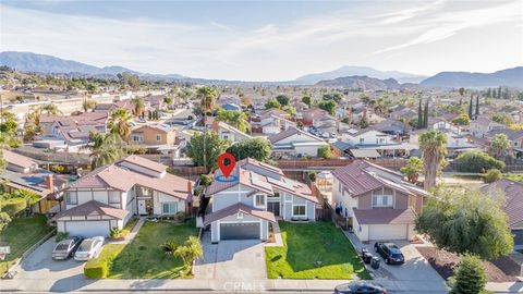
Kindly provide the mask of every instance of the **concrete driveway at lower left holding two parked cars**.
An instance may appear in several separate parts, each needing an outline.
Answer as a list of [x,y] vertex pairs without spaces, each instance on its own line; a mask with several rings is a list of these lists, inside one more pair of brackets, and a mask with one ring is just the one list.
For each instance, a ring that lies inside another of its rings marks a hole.
[[17,290],[50,289],[56,292],[72,292],[94,282],[84,278],[85,262],[73,258],[52,260],[51,253],[56,245],[51,237],[14,269],[17,273],[12,282]]

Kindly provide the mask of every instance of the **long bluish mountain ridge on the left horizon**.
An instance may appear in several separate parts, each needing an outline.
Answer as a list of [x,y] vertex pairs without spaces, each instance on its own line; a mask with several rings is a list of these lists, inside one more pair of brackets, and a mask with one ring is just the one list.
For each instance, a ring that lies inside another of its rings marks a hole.
[[82,62],[65,60],[52,56],[37,54],[32,52],[4,51],[0,52],[0,65],[8,65],[21,72],[54,73],[54,74],[82,74],[82,75],[113,75],[119,73],[132,73],[145,78],[166,77],[183,78],[179,74],[157,75],[136,72],[122,66],[97,68]]

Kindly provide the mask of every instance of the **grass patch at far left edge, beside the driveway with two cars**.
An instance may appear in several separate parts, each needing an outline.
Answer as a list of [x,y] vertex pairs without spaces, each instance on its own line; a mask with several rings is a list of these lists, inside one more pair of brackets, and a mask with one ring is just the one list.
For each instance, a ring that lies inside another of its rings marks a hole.
[[[11,246],[11,254],[7,256],[9,265],[13,265],[31,246],[52,230],[44,215],[13,219],[0,233],[0,246]],[[5,272],[5,265],[4,261],[0,264],[0,275],[2,275]]]

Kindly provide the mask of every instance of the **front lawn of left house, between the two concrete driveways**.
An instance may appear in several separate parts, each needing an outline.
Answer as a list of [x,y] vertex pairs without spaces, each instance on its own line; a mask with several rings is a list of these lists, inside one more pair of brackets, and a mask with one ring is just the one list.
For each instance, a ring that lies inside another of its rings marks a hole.
[[[146,221],[136,237],[120,253],[110,248],[113,255],[109,279],[175,279],[180,277],[183,262],[180,258],[165,255],[160,245],[168,240],[183,244],[188,236],[197,236],[194,220],[183,224]],[[102,253],[104,255],[104,253]],[[110,256],[110,253],[107,253]],[[102,256],[100,256],[102,258]],[[104,257],[106,258],[106,257]]]

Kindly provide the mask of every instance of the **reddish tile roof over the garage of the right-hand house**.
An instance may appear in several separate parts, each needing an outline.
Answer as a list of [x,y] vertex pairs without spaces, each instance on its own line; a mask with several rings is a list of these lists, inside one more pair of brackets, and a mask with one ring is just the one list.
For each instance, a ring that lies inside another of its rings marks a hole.
[[352,211],[354,212],[354,217],[360,224],[413,223],[416,219],[416,212],[414,212],[412,208],[353,208]]

